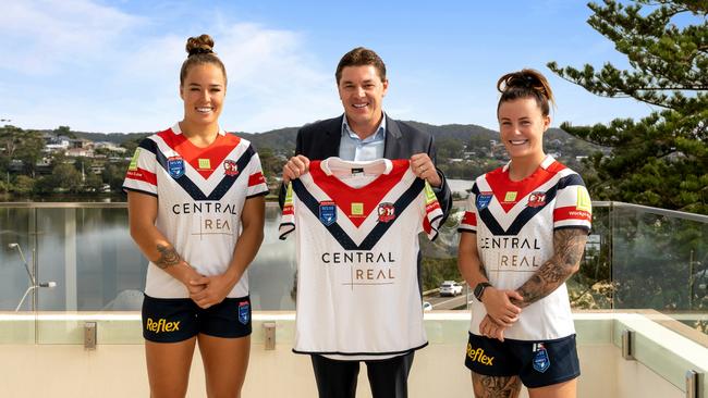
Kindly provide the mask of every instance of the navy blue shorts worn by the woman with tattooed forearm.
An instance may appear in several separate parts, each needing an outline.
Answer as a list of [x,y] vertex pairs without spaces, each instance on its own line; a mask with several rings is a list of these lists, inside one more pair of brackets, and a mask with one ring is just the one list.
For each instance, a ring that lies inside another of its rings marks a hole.
[[465,366],[486,376],[518,376],[528,388],[567,382],[581,375],[575,335],[524,341],[469,333]]

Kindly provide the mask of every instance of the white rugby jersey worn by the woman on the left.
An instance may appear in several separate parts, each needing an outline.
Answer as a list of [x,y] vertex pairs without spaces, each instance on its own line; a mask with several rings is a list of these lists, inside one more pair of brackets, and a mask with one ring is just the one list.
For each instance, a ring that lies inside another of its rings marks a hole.
[[[268,192],[251,142],[220,130],[211,145],[198,148],[182,135],[179,123],[141,142],[123,189],[157,197],[155,226],[182,258],[207,276],[223,274],[229,268],[246,198]],[[152,262],[145,285],[150,297],[190,297],[180,281]],[[247,294],[244,272],[228,297]]]

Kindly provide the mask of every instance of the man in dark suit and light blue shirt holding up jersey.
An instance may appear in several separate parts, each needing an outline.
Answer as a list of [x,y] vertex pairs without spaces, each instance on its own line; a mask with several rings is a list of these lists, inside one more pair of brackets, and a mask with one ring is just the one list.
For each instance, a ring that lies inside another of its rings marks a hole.
[[[444,220],[452,207],[452,196],[444,175],[435,166],[436,148],[432,137],[389,117],[381,109],[389,87],[383,61],[369,49],[355,48],[340,60],[335,78],[344,114],[305,125],[297,132],[295,156],[283,166],[281,207],[285,196],[284,187],[291,179],[307,173],[310,159],[410,159],[415,175],[432,187]],[[418,270],[419,266],[420,253]],[[386,359],[319,355],[313,355],[312,359],[320,398],[354,398],[359,361],[367,364],[375,398],[407,397],[413,351]]]

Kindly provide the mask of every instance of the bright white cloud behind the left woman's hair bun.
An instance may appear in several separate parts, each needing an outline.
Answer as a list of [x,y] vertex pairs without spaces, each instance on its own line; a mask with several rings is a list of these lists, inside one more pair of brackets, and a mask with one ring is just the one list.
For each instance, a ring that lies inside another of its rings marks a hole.
[[[224,128],[264,132],[341,112],[333,71],[322,72],[301,34],[253,23],[218,24],[210,34],[229,77]],[[149,104],[134,107],[134,128],[167,126],[174,122],[164,120],[167,113],[181,116],[178,85],[185,41],[186,35],[176,34],[146,40],[117,70],[120,97]],[[136,92],[150,98],[136,98]]]

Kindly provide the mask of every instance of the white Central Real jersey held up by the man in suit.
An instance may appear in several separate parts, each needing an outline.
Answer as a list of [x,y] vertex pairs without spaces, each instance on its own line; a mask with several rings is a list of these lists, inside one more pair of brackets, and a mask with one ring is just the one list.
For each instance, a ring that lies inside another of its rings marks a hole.
[[297,248],[293,351],[358,360],[425,347],[418,234],[435,239],[441,219],[407,160],[310,162],[280,224]]

